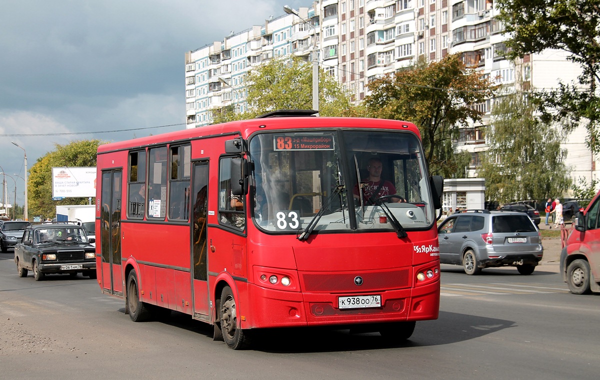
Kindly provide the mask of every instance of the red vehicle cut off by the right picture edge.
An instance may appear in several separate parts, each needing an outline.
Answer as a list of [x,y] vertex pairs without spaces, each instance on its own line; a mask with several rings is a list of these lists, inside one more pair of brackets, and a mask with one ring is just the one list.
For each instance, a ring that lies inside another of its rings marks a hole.
[[[565,203],[566,204],[566,203]],[[560,252],[560,273],[573,294],[600,292],[600,192],[575,216]]]

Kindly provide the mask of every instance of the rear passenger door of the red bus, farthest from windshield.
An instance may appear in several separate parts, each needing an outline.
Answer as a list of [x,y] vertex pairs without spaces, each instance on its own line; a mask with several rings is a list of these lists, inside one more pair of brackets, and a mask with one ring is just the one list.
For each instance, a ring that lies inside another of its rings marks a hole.
[[100,239],[102,288],[108,294],[123,294],[121,271],[121,169],[102,172]]

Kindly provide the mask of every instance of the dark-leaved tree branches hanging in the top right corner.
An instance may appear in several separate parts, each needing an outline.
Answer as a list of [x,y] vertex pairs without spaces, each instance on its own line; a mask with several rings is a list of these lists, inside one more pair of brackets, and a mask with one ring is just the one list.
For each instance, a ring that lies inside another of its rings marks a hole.
[[509,58],[558,49],[581,66],[578,85],[560,83],[536,96],[546,120],[562,120],[567,129],[586,123],[586,142],[600,152],[600,0],[498,0],[497,5]]

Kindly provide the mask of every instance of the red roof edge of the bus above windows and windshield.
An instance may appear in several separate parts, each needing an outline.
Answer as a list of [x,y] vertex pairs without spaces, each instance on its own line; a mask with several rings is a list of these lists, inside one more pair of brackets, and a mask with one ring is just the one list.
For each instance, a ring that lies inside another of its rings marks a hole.
[[121,149],[134,149],[158,143],[187,140],[205,136],[240,134],[247,138],[253,132],[269,131],[292,128],[383,128],[401,129],[414,132],[419,138],[421,134],[415,124],[400,120],[368,119],[364,117],[266,117],[262,119],[236,120],[232,122],[200,126],[181,131],[167,132],[148,137],[134,138],[132,140],[118,141],[115,143],[98,146],[98,153],[110,152]]

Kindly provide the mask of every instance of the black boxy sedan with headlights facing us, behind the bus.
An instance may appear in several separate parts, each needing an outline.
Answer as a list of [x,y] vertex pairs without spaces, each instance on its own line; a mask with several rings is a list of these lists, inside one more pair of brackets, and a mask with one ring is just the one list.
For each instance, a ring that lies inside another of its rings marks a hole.
[[31,270],[35,281],[50,273],[83,273],[96,278],[96,249],[82,227],[72,224],[29,226],[20,243],[14,246],[14,261],[19,277]]

